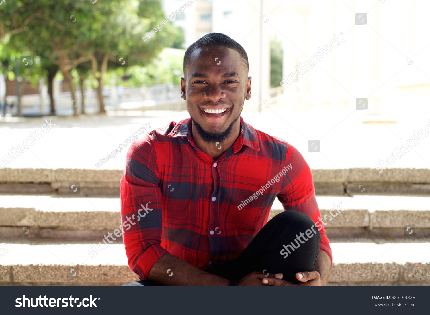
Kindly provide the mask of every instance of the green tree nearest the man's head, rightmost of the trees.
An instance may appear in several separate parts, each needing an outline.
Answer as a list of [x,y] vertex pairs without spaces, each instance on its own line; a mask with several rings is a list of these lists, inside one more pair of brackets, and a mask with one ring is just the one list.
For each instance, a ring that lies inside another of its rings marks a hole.
[[[182,45],[184,42],[180,30],[168,21],[164,25],[164,12],[160,7],[160,0],[139,0],[100,8],[103,18],[95,26],[97,37],[92,42],[91,62],[93,76],[98,80],[101,113],[105,112],[103,79],[107,70],[115,70],[120,66],[118,56],[125,55],[129,67],[142,67],[150,63],[164,47]],[[163,26],[159,31],[160,22]],[[159,31],[156,33],[157,38],[144,41],[142,36],[153,29]]]

